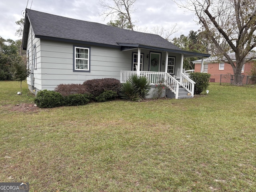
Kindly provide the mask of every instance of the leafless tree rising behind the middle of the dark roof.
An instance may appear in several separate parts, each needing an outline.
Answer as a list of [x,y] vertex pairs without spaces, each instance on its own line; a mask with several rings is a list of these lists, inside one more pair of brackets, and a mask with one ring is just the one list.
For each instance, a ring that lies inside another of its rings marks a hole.
[[124,16],[128,20],[130,29],[133,30],[134,22],[132,22],[131,14],[136,11],[134,3],[137,0],[112,0],[112,4],[106,2],[106,0],[100,0],[99,5],[104,9],[100,16],[104,16],[106,19],[108,16]]

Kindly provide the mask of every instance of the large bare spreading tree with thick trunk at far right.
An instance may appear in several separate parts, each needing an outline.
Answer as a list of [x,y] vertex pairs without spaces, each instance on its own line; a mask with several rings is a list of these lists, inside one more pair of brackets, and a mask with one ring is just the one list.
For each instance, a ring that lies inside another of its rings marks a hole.
[[[195,12],[208,38],[232,66],[234,84],[242,85],[245,57],[256,47],[255,0],[188,0],[176,4]],[[235,52],[236,63],[228,56],[230,50]]]

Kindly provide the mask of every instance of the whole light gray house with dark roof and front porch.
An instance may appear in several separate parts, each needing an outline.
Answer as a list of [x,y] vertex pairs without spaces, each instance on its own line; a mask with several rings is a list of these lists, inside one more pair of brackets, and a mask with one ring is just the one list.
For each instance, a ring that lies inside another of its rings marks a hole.
[[179,86],[194,96],[192,80],[182,73],[179,80],[173,76],[183,68],[184,57],[210,56],[184,51],[155,34],[29,9],[22,43],[31,70],[28,86],[35,93],[95,78],[126,82],[138,74],[147,76],[152,84],[164,80],[176,98],[182,98]]

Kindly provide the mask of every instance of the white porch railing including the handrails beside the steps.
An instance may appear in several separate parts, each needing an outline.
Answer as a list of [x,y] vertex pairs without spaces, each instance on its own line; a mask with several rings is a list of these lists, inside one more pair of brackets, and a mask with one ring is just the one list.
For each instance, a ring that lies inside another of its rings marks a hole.
[[[120,82],[125,83],[135,74],[137,74],[137,71],[121,71]],[[176,94],[176,99],[178,99],[179,86],[184,87],[194,97],[195,82],[183,73],[180,74],[180,82],[166,72],[140,71],[140,76],[146,76],[150,84],[158,84],[159,82],[162,82]]]

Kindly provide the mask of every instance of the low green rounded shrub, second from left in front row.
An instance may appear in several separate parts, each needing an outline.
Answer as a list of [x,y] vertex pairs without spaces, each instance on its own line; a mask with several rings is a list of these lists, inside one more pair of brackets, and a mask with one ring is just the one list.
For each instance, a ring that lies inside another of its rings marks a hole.
[[66,106],[85,105],[90,101],[87,94],[71,94],[64,97]]

